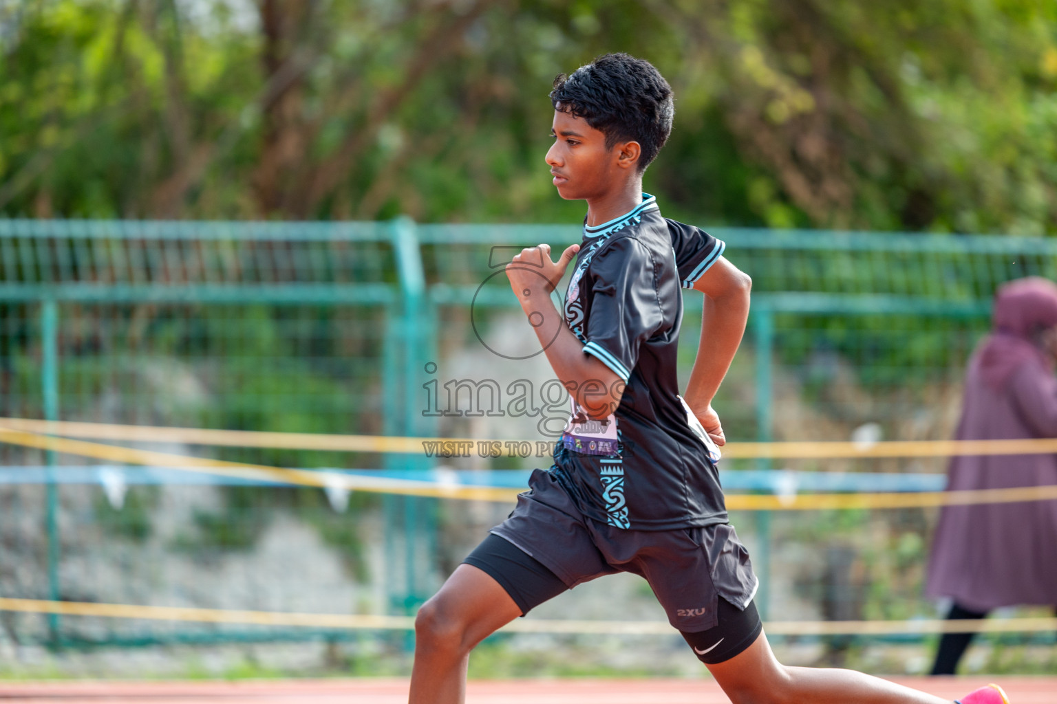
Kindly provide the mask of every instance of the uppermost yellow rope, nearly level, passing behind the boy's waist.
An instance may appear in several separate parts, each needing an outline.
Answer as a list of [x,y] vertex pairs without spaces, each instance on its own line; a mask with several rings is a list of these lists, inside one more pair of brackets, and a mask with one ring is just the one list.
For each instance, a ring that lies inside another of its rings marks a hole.
[[[0,425],[43,435],[130,442],[183,442],[239,448],[282,448],[334,452],[421,453],[426,442],[476,443],[471,438],[414,438],[383,435],[326,435],[317,433],[265,433],[201,427],[116,425],[72,421],[0,418]],[[503,452],[512,451],[501,442]],[[727,458],[841,459],[868,457],[952,457],[964,455],[1038,455],[1057,453],[1057,438],[1016,440],[885,440],[873,443],[798,441],[731,442],[723,448]]]

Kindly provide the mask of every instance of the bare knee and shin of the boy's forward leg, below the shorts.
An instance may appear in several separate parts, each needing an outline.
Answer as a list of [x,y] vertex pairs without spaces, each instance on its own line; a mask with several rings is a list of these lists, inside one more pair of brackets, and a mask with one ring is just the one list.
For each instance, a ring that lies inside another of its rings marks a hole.
[[466,699],[469,651],[521,615],[498,582],[460,565],[414,620],[410,704],[461,704]]

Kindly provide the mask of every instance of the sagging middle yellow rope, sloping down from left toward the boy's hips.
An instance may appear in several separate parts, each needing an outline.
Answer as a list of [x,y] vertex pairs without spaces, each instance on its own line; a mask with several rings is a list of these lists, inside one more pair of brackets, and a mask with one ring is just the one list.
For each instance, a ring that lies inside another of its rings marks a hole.
[[[26,448],[95,457],[129,464],[163,465],[178,471],[220,474],[243,479],[279,481],[322,489],[339,488],[408,496],[429,496],[481,501],[513,501],[519,491],[497,487],[467,487],[435,481],[414,481],[385,477],[348,475],[338,472],[288,470],[264,464],[246,464],[204,457],[120,448],[71,440],[0,427],[0,442]],[[819,511],[836,509],[913,509],[979,503],[1014,503],[1057,499],[1057,484],[944,492],[876,492],[845,494],[731,494],[726,496],[733,511]]]

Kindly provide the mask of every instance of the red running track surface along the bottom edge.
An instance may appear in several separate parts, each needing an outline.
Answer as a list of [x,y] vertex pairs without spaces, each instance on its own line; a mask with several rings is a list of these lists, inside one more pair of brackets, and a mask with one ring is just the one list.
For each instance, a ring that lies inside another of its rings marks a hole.
[[[1054,704],[1057,678],[893,678],[953,700],[997,680],[1012,704]],[[709,680],[470,682],[467,704],[729,704]],[[3,704],[406,704],[407,680],[2,683]]]

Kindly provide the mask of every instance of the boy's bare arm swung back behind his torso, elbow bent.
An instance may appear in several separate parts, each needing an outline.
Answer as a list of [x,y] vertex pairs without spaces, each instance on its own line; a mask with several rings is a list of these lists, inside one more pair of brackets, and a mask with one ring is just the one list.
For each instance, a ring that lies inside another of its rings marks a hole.
[[726,438],[720,418],[712,410],[712,398],[745,332],[753,280],[720,256],[698,279],[693,288],[705,294],[705,305],[701,343],[684,398],[708,435],[722,445]]

